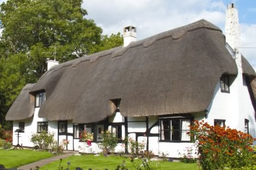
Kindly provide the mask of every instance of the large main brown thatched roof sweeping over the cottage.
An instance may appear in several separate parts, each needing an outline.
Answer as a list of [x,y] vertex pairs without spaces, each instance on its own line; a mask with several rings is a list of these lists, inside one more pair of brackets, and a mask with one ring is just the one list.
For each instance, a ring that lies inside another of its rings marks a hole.
[[208,108],[224,73],[237,75],[224,35],[200,20],[57,65],[30,93],[45,90],[39,116],[50,121],[102,121],[117,98],[123,116],[193,113]]

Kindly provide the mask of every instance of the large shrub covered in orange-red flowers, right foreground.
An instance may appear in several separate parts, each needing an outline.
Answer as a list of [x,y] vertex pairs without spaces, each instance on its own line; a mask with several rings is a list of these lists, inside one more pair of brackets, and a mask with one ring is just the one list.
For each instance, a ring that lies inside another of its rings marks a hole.
[[198,159],[203,169],[242,169],[252,167],[254,139],[247,133],[220,126],[209,126],[195,121],[190,135],[198,148]]

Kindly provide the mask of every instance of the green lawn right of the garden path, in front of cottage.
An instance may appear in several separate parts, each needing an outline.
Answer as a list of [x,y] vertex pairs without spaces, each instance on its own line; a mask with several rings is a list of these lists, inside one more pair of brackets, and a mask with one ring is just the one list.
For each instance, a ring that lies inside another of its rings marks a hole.
[[[88,170],[92,168],[93,170],[114,170],[117,168],[118,164],[121,164],[125,160],[125,167],[128,169],[135,169],[133,164],[131,164],[130,159],[125,159],[121,156],[94,156],[94,155],[83,155],[83,156],[70,156],[66,159],[63,159],[61,162],[61,166],[63,169],[67,168],[67,162],[70,161],[69,169],[76,169],[76,167],[80,167],[81,169]],[[156,166],[157,163],[160,163]],[[46,166],[40,167],[40,170],[51,169],[57,170],[59,167],[60,161],[52,162]],[[181,162],[169,162],[169,161],[152,161],[151,166],[155,169],[162,170],[175,170],[175,169],[198,169],[197,164],[185,164]]]

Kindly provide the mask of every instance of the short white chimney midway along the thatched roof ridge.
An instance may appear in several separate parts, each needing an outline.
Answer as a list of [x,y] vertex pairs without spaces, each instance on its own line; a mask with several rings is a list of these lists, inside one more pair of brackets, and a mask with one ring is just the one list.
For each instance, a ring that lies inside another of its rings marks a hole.
[[131,42],[136,42],[136,27],[128,26],[123,28],[123,47],[128,46]]

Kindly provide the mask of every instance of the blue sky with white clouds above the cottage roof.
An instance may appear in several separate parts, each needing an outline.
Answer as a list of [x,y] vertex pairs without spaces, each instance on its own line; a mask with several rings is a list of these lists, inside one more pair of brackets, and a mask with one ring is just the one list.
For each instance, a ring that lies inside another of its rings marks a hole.
[[256,70],[255,0],[84,0],[82,7],[87,9],[86,18],[102,27],[104,34],[122,33],[123,27],[133,25],[137,39],[144,39],[200,19],[224,32],[226,6],[231,3],[239,12],[240,51]]

